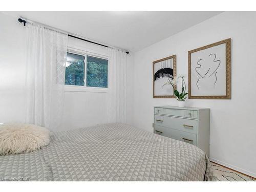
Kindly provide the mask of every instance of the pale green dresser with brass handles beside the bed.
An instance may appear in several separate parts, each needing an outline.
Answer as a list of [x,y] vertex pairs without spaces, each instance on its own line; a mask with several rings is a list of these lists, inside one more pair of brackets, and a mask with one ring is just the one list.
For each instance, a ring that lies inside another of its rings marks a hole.
[[154,133],[198,146],[209,157],[210,109],[154,107]]

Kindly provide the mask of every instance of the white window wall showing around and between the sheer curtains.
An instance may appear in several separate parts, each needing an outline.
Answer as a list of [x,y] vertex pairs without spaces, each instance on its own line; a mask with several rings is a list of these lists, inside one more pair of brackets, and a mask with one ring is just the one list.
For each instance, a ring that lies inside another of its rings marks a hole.
[[[0,13],[0,123],[25,120],[26,28]],[[69,38],[69,47],[108,55],[106,48]],[[134,54],[127,55],[127,123],[132,117]],[[106,123],[106,93],[65,92],[62,129]]]

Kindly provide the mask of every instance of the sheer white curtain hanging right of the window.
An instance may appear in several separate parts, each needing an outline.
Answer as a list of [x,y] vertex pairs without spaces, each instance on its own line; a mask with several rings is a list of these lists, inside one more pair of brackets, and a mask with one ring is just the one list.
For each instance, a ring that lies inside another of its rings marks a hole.
[[107,96],[108,122],[126,122],[126,66],[124,51],[109,48],[109,76]]

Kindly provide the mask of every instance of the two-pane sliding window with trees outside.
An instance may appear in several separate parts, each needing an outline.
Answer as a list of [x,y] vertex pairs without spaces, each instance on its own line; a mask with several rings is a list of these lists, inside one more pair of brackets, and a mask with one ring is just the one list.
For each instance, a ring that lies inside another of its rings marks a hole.
[[90,55],[67,53],[65,84],[108,88],[108,60]]

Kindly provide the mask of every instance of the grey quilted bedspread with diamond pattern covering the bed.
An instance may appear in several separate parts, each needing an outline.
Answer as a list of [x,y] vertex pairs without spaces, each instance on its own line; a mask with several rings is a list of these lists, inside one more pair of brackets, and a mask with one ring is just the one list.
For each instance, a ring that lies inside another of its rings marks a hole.
[[41,150],[0,156],[2,181],[211,181],[198,147],[126,124],[53,133]]

